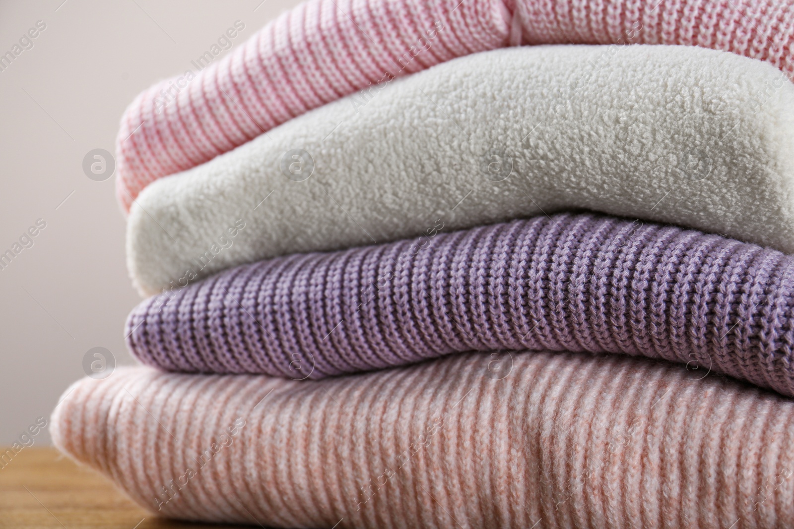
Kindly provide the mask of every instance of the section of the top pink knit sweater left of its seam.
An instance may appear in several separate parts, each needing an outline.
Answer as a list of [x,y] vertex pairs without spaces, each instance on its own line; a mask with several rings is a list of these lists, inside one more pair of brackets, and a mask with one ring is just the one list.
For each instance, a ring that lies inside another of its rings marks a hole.
[[499,0],[304,2],[194,72],[167,105],[160,90],[176,77],[138,95],[118,132],[118,200],[129,211],[156,178],[356,90],[503,47],[510,27]]

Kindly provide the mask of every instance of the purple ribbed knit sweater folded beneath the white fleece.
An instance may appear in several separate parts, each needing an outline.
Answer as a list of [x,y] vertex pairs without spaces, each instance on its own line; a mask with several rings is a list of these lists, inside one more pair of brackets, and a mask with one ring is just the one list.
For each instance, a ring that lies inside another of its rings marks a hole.
[[166,370],[296,379],[457,351],[626,353],[794,396],[794,257],[591,214],[437,228],[151,297],[129,316],[129,347]]

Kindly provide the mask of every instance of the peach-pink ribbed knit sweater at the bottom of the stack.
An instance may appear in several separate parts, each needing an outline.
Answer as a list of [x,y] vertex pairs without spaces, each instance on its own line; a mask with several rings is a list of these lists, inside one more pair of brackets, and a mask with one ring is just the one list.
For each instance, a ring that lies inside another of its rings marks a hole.
[[794,527],[794,402],[683,366],[455,355],[290,381],[121,368],[52,439],[163,516],[261,527]]

